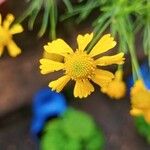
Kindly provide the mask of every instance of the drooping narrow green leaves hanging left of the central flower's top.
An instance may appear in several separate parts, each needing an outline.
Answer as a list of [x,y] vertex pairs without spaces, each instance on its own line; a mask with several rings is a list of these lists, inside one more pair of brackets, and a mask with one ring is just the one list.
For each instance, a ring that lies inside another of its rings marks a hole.
[[37,15],[42,8],[44,8],[43,20],[38,36],[43,36],[48,24],[50,24],[50,35],[52,39],[55,39],[57,24],[57,4],[55,0],[31,0],[25,12],[18,19],[18,22],[22,22],[29,17],[28,27],[32,30]]

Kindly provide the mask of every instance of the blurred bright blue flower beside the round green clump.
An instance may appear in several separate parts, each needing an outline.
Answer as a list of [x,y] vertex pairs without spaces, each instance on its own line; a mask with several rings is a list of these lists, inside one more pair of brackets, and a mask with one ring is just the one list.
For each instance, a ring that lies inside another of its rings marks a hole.
[[43,88],[33,98],[33,119],[31,133],[35,136],[42,131],[48,119],[61,116],[66,110],[66,100],[62,94]]

